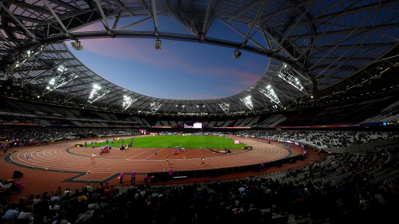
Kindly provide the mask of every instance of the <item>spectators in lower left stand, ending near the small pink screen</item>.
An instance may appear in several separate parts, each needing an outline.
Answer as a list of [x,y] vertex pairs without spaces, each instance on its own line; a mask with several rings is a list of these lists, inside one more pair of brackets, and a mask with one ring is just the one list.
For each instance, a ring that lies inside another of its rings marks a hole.
[[0,127],[0,134],[0,137],[5,137],[6,140],[17,143],[17,146],[23,146],[29,144],[29,142],[38,143],[96,136],[139,135],[141,132],[132,128],[2,126]]

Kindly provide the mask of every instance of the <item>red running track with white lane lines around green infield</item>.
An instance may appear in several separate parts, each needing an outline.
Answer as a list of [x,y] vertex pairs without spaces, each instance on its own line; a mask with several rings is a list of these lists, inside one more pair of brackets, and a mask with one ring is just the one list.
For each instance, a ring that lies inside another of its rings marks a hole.
[[[205,158],[206,166],[200,165],[200,160],[193,159],[171,159],[174,171],[191,171],[215,168],[227,168],[260,164],[263,159],[265,162],[278,160],[289,154],[288,150],[280,145],[267,144],[264,142],[230,136],[239,139],[242,143],[253,146],[253,150],[235,154]],[[45,146],[29,147],[13,153],[10,159],[23,166],[47,168],[49,170],[59,170],[64,172],[88,172],[92,173],[119,173],[129,172],[136,169],[138,173],[162,172],[168,170],[165,160],[138,157],[127,159],[101,158],[97,156],[96,161],[92,162],[89,157],[83,157],[66,152],[66,148],[72,147],[77,142],[66,142],[62,144],[52,144]],[[43,148],[41,151],[40,148]],[[150,150],[150,155],[154,153]],[[28,153],[31,158],[26,159]],[[148,157],[148,156],[146,156]]]

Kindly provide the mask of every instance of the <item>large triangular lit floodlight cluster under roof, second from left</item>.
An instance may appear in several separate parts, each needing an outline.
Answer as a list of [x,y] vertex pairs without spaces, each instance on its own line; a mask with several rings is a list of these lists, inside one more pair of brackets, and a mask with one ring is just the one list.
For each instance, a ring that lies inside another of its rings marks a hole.
[[76,79],[78,77],[74,72],[68,71],[65,66],[60,65],[55,71],[54,76],[48,81],[46,89],[43,91],[43,95],[57,89],[60,86],[63,86],[70,81]]

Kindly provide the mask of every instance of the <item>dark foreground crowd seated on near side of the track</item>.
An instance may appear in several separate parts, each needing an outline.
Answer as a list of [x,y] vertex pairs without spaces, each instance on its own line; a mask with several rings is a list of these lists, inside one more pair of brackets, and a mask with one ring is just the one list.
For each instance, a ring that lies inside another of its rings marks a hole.
[[[330,223],[392,223],[399,215],[398,150],[327,156],[256,179],[183,186],[137,186],[119,194],[108,183],[73,194],[30,195],[3,202],[3,221],[29,223],[261,224],[312,219]],[[388,171],[388,172],[387,172]],[[380,178],[377,178],[380,177]]]

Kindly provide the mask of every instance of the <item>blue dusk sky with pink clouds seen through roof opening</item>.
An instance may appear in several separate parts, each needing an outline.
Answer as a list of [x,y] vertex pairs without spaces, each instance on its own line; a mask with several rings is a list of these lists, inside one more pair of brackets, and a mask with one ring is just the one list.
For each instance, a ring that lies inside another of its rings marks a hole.
[[[141,18],[123,18],[118,28]],[[109,20],[112,25],[113,20]],[[190,34],[169,16],[158,17],[161,32]],[[236,25],[243,33],[248,27]],[[129,30],[151,31],[152,20]],[[101,22],[78,31],[104,30]],[[254,32],[254,31],[252,31]],[[208,37],[242,42],[243,37],[215,20]],[[264,43],[259,33],[253,39]],[[162,39],[161,39],[162,40]],[[162,40],[156,50],[155,39],[103,38],[80,40],[84,48],[71,52],[89,69],[125,89],[150,97],[179,100],[206,100],[229,97],[256,83],[269,58],[242,52],[233,59],[234,49],[203,43]],[[249,42],[248,42],[249,43]]]

